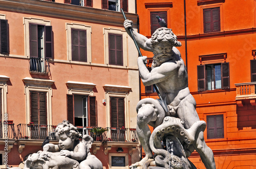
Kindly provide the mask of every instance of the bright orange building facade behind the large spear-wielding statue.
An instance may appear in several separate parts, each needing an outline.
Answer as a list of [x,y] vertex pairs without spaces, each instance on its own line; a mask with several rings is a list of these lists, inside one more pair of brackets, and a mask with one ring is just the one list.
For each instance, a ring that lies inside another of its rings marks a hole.
[[[182,43],[188,87],[207,123],[204,137],[216,168],[256,167],[255,7],[254,0],[137,1],[140,34],[151,38],[158,15]],[[151,69],[153,54],[142,55]],[[158,96],[141,82],[146,97]],[[205,168],[197,152],[189,160]]]

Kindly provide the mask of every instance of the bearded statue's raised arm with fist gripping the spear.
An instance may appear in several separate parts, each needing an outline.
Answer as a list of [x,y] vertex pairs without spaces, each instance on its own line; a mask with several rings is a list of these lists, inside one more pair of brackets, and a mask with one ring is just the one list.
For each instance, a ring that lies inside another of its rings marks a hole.
[[153,52],[153,48],[151,45],[151,39],[148,39],[147,37],[139,34],[138,32],[133,30],[133,21],[132,20],[125,20],[123,22],[125,31],[127,32],[127,34],[132,38],[131,32],[129,31],[129,29],[132,30],[134,38],[138,44],[138,46],[144,50],[147,51],[152,51]]

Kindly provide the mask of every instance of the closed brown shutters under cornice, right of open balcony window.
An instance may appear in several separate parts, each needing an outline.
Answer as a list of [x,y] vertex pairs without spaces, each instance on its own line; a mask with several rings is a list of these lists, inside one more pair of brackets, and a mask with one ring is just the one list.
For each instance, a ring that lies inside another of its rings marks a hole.
[[124,98],[110,98],[111,127],[122,128],[124,121]]

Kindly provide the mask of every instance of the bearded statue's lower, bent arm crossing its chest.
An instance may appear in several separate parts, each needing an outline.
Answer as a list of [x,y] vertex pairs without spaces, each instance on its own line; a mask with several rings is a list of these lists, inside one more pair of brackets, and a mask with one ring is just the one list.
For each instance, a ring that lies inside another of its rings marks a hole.
[[144,64],[145,61],[146,57],[138,58],[139,73],[144,86],[154,85],[165,80],[177,73],[177,69],[179,67],[179,64],[177,63],[166,62],[149,72]]

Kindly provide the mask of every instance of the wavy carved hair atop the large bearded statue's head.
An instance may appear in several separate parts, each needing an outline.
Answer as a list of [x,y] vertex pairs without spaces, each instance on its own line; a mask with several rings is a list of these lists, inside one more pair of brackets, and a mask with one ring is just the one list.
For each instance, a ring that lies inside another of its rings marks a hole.
[[181,46],[181,43],[177,41],[177,36],[174,35],[172,29],[168,29],[167,27],[160,27],[154,32],[151,37],[152,47],[154,48],[154,45],[161,41],[168,41],[172,46]]

